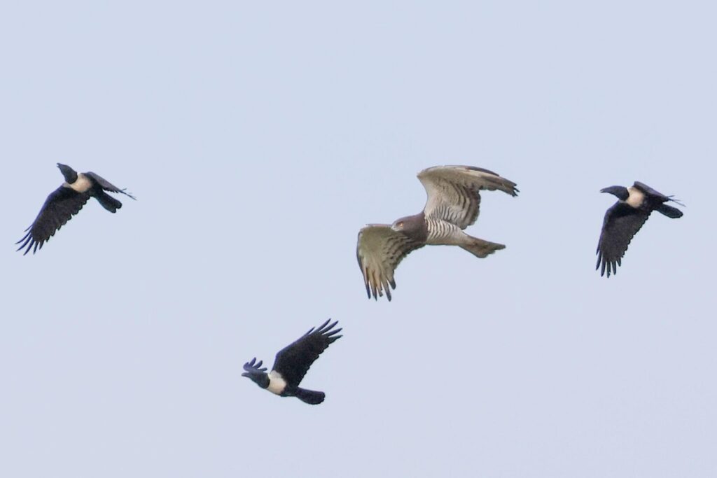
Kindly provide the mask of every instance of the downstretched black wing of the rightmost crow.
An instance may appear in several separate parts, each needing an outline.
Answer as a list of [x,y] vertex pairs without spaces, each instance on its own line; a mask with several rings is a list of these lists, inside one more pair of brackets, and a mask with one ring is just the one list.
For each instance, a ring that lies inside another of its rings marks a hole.
[[597,243],[595,269],[602,264],[600,275],[604,275],[606,267],[607,277],[617,272],[617,266],[622,262],[628,244],[650,217],[650,212],[645,209],[635,209],[622,202],[615,203],[607,210],[602,222],[600,240]]

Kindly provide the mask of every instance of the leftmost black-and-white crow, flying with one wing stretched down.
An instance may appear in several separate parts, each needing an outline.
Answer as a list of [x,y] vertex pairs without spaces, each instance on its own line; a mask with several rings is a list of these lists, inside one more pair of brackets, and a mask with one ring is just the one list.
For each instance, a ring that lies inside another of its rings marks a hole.
[[65,182],[47,196],[37,218],[25,229],[27,234],[15,243],[22,243],[17,250],[25,249],[23,255],[30,252],[30,249],[33,254],[37,249],[42,249],[42,244],[54,236],[58,229],[72,219],[72,216],[80,212],[90,197],[97,199],[103,208],[110,212],[120,209],[122,203],[105,191],[123,193],[136,199],[131,194],[125,193],[124,189],[113,186],[95,173],[77,173],[70,166],[60,163],[57,163],[57,167],[60,168],[62,176],[65,176]]

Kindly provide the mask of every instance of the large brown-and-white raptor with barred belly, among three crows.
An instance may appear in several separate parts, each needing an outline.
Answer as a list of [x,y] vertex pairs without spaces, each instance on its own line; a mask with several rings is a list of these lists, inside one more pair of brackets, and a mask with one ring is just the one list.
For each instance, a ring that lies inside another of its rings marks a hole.
[[435,166],[418,173],[428,199],[424,209],[394,224],[368,224],[359,231],[356,258],[364,274],[366,294],[391,300],[396,288],[394,271],[404,257],[426,244],[458,246],[476,257],[486,257],[503,244],[484,241],[463,232],[478,219],[480,191],[518,195],[516,183],[493,171],[473,166]]

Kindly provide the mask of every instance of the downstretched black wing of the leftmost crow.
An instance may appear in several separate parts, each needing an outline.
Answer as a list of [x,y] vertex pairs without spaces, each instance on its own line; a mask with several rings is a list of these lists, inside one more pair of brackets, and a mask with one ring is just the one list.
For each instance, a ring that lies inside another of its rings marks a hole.
[[24,254],[27,254],[32,249],[34,254],[37,249],[42,249],[44,242],[54,236],[54,233],[64,226],[72,216],[80,212],[82,206],[87,203],[87,199],[90,199],[89,193],[78,193],[65,186],[54,190],[47,196],[32,225],[25,229],[27,234],[15,243],[22,243],[17,250],[25,249]]

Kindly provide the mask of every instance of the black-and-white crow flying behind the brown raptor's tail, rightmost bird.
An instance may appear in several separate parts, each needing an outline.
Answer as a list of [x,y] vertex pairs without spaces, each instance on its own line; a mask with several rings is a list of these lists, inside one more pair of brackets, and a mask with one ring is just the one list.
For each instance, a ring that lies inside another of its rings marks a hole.
[[597,264],[595,269],[600,269],[600,275],[604,275],[607,269],[607,277],[610,273],[617,273],[617,266],[622,262],[622,256],[627,251],[632,237],[640,231],[642,224],[645,224],[652,211],[657,211],[672,219],[682,217],[682,211],[665,204],[668,201],[684,206],[672,196],[665,196],[650,188],[646,184],[635,181],[630,188],[624,186],[610,186],[600,190],[601,193],[610,193],[617,196],[615,203],[605,213],[602,222],[602,232],[597,244]]

